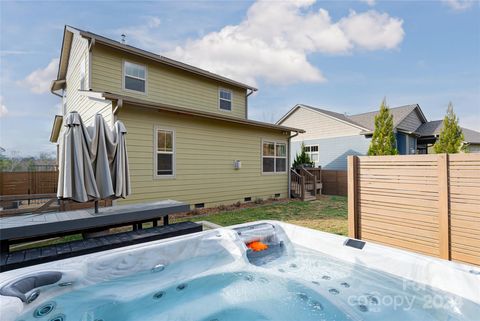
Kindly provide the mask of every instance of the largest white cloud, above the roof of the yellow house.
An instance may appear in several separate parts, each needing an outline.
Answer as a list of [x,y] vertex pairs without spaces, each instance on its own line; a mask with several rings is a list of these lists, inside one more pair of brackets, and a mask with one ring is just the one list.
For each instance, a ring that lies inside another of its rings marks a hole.
[[403,40],[401,19],[351,11],[334,22],[328,11],[313,10],[314,3],[257,1],[238,25],[191,39],[166,56],[251,84],[321,82],[325,77],[310,54],[392,49]]

